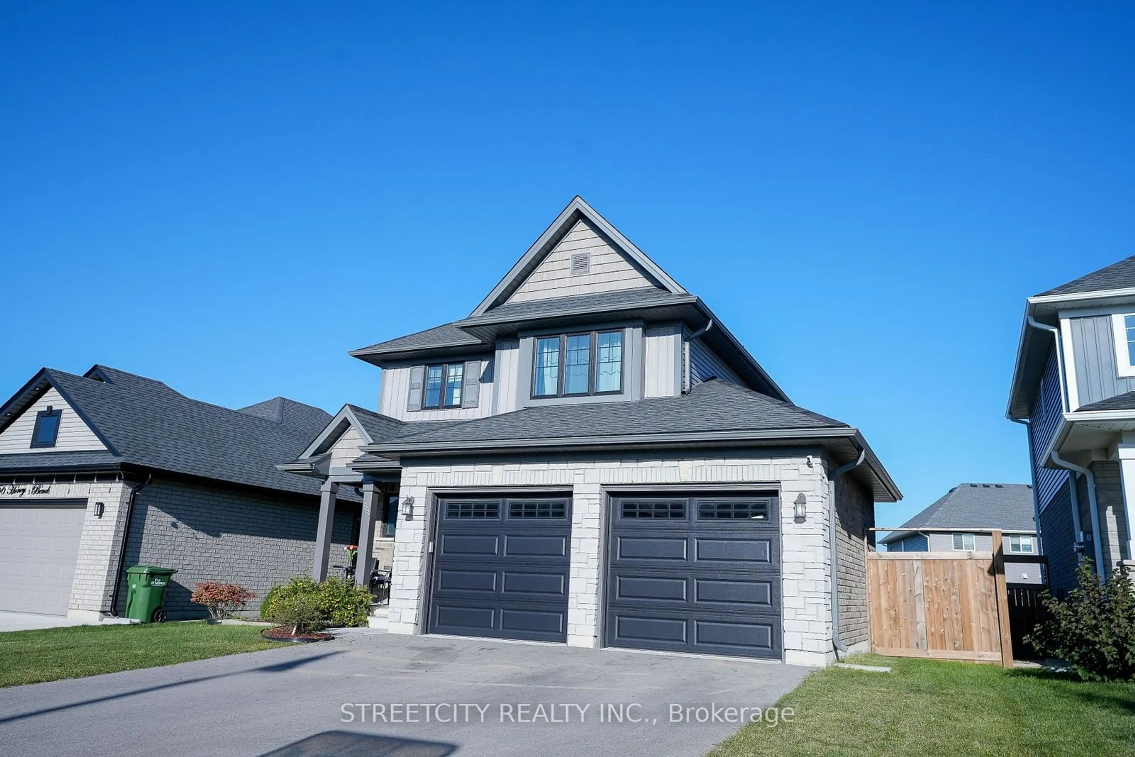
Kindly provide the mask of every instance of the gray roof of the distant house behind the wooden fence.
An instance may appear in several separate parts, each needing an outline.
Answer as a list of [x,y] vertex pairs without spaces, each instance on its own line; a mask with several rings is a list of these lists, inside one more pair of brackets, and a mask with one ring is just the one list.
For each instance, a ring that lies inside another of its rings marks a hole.
[[[959,483],[902,528],[1032,531],[1036,528],[1033,487],[1027,483]],[[907,536],[892,531],[882,542],[890,544]]]

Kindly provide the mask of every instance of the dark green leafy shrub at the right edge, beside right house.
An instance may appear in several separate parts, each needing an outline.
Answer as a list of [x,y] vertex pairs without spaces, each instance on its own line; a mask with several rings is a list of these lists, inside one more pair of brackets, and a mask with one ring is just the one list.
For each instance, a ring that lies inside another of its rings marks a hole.
[[1101,581],[1085,560],[1076,580],[1079,588],[1065,600],[1044,595],[1051,620],[1025,640],[1042,654],[1067,661],[1085,680],[1135,679],[1135,588],[1127,569],[1120,566]]

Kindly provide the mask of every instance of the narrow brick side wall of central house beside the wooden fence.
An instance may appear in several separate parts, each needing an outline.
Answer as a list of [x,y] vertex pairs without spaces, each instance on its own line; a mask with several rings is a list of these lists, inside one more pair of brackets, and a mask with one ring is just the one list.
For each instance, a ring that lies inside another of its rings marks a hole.
[[840,640],[859,644],[867,640],[867,547],[875,546],[867,529],[875,525],[875,503],[847,473],[835,479],[835,525]]

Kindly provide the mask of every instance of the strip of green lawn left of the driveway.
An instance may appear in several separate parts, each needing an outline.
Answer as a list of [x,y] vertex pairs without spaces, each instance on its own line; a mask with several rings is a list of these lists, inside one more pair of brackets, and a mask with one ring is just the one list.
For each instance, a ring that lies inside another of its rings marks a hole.
[[0,688],[258,651],[259,626],[153,623],[0,633]]

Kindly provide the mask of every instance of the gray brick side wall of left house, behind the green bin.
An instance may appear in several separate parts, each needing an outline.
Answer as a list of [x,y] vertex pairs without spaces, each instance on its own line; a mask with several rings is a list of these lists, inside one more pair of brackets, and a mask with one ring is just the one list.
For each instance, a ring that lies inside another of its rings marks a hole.
[[[204,607],[190,602],[200,581],[241,583],[257,594],[246,612],[257,612],[274,584],[311,574],[318,513],[318,497],[154,479],[134,504],[126,566],[178,570],[166,589],[171,619],[208,615]],[[331,564],[345,562],[344,547],[358,538],[358,518],[359,505],[338,502]],[[123,612],[125,575],[119,597],[118,611]]]

